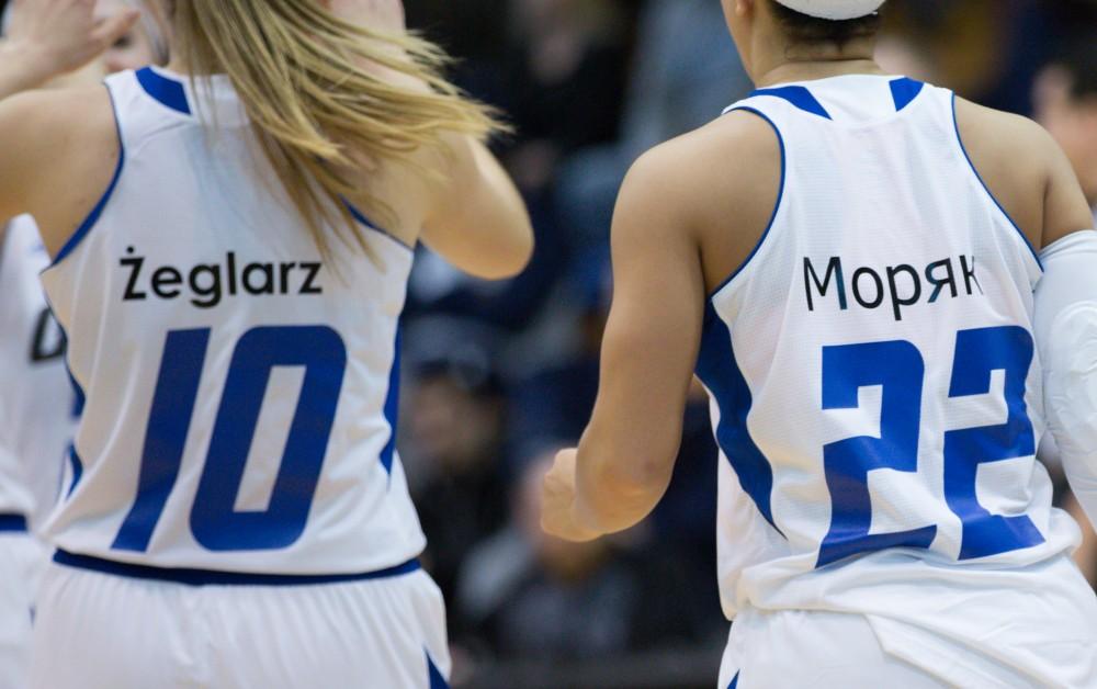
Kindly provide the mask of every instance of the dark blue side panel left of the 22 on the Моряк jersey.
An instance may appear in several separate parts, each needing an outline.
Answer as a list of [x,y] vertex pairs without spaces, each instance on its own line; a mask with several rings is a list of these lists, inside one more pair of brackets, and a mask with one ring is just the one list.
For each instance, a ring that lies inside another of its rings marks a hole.
[[773,467],[755,444],[750,438],[750,429],[747,428],[747,417],[754,404],[750,387],[735,360],[732,334],[711,303],[705,304],[704,308],[697,376],[709,388],[720,407],[716,443],[738,475],[743,489],[758,506],[758,511],[781,533],[773,522],[770,505]]

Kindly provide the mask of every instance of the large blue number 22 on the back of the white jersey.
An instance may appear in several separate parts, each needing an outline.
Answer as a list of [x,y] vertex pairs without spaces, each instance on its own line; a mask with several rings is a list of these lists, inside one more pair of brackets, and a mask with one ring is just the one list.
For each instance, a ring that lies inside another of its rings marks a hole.
[[[960,560],[987,557],[1043,542],[1025,515],[992,515],[979,502],[979,465],[1032,456],[1036,439],[1025,392],[1033,357],[1025,328],[962,330],[957,335],[949,397],[991,392],[994,371],[1005,371],[1008,418],[1000,426],[945,433],[945,499],[963,524]],[[880,437],[849,438],[824,447],[826,483],[834,510],[819,546],[817,566],[885,547],[928,549],[937,527],[870,534],[872,504],[868,473],[877,468],[918,471],[925,361],[906,340],[823,348],[823,409],[858,408],[858,389],[882,386]]]

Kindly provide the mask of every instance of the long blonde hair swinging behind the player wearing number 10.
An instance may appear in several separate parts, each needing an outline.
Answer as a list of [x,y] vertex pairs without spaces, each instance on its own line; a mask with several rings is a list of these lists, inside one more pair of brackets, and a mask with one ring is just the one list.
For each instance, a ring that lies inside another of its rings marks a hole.
[[[441,147],[451,132],[485,138],[504,128],[442,77],[448,57],[438,46],[348,23],[319,0],[182,0],[168,9],[173,49],[192,76],[228,76],[325,255],[326,226],[367,252],[349,203],[383,226],[395,222],[393,210],[343,170],[364,157],[431,174],[412,160],[420,148]],[[386,80],[378,68],[405,78]]]

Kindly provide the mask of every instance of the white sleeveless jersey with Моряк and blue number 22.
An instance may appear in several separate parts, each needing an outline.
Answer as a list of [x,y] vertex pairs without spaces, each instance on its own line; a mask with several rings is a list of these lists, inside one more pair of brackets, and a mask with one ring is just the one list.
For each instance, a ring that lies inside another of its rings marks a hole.
[[1097,681],[1093,591],[1045,566],[1079,535],[1034,456],[1041,267],[971,165],[953,94],[848,76],[728,110],[773,126],[783,179],[708,303],[698,364],[726,614],[863,613],[923,657],[964,665],[947,636],[1048,686],[1058,668]]

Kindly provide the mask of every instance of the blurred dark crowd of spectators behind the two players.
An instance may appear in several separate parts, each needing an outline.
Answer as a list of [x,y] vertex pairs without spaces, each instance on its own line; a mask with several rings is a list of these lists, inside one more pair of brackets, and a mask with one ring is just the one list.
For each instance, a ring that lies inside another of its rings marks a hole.
[[[454,685],[711,687],[728,628],[703,395],[687,413],[667,497],[633,532],[586,545],[548,539],[538,492],[593,403],[625,171],[751,89],[720,0],[406,5],[409,24],[459,58],[456,81],[512,123],[496,149],[538,235],[530,270],[508,283],[464,278],[426,250],[410,283],[399,447],[426,562],[449,601]],[[1038,116],[1097,203],[1097,1],[885,8],[885,68]]]

